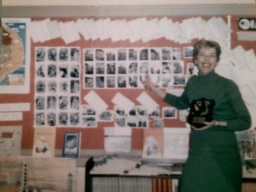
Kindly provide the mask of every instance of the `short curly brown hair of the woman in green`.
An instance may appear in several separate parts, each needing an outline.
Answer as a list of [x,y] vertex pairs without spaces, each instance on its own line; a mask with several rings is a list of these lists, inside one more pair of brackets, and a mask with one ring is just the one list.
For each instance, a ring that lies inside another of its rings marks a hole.
[[214,41],[209,41],[209,40],[199,40],[198,42],[195,43],[194,49],[193,49],[193,60],[195,61],[198,56],[198,52],[202,47],[209,47],[209,48],[214,48],[216,50],[216,58],[217,61],[220,61],[220,54],[221,54],[221,47],[220,44]]

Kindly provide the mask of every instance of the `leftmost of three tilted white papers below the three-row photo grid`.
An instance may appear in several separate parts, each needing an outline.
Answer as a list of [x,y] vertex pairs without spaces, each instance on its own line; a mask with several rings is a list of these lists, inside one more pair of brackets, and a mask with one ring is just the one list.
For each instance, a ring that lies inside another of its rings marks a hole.
[[98,114],[102,113],[108,108],[108,104],[106,104],[106,102],[104,102],[104,100],[101,99],[94,91],[91,91],[85,95],[84,100],[90,104],[90,106],[92,106],[92,108],[95,109]]

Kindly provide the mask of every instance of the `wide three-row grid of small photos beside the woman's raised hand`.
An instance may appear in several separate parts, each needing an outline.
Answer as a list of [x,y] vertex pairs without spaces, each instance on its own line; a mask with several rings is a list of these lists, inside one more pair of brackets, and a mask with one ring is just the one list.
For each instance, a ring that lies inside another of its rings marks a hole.
[[[184,56],[190,58],[187,48]],[[146,74],[157,88],[184,86],[181,56],[180,48],[172,47],[83,49],[84,89],[143,88]]]

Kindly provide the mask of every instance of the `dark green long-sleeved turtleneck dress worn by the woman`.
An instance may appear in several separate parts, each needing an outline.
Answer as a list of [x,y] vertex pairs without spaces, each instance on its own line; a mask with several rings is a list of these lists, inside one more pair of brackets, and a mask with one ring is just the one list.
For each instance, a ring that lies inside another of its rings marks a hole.
[[202,98],[214,99],[213,119],[227,121],[227,127],[191,130],[179,192],[241,192],[241,157],[235,131],[250,128],[248,109],[237,85],[214,71],[192,76],[180,97],[167,93],[164,101],[186,109],[193,100]]

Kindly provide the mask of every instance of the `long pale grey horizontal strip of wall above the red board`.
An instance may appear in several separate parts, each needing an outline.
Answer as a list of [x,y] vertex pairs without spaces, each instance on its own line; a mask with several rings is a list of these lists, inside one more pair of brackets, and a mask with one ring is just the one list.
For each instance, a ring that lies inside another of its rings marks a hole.
[[174,15],[253,15],[255,4],[147,6],[3,6],[2,17],[140,17]]

